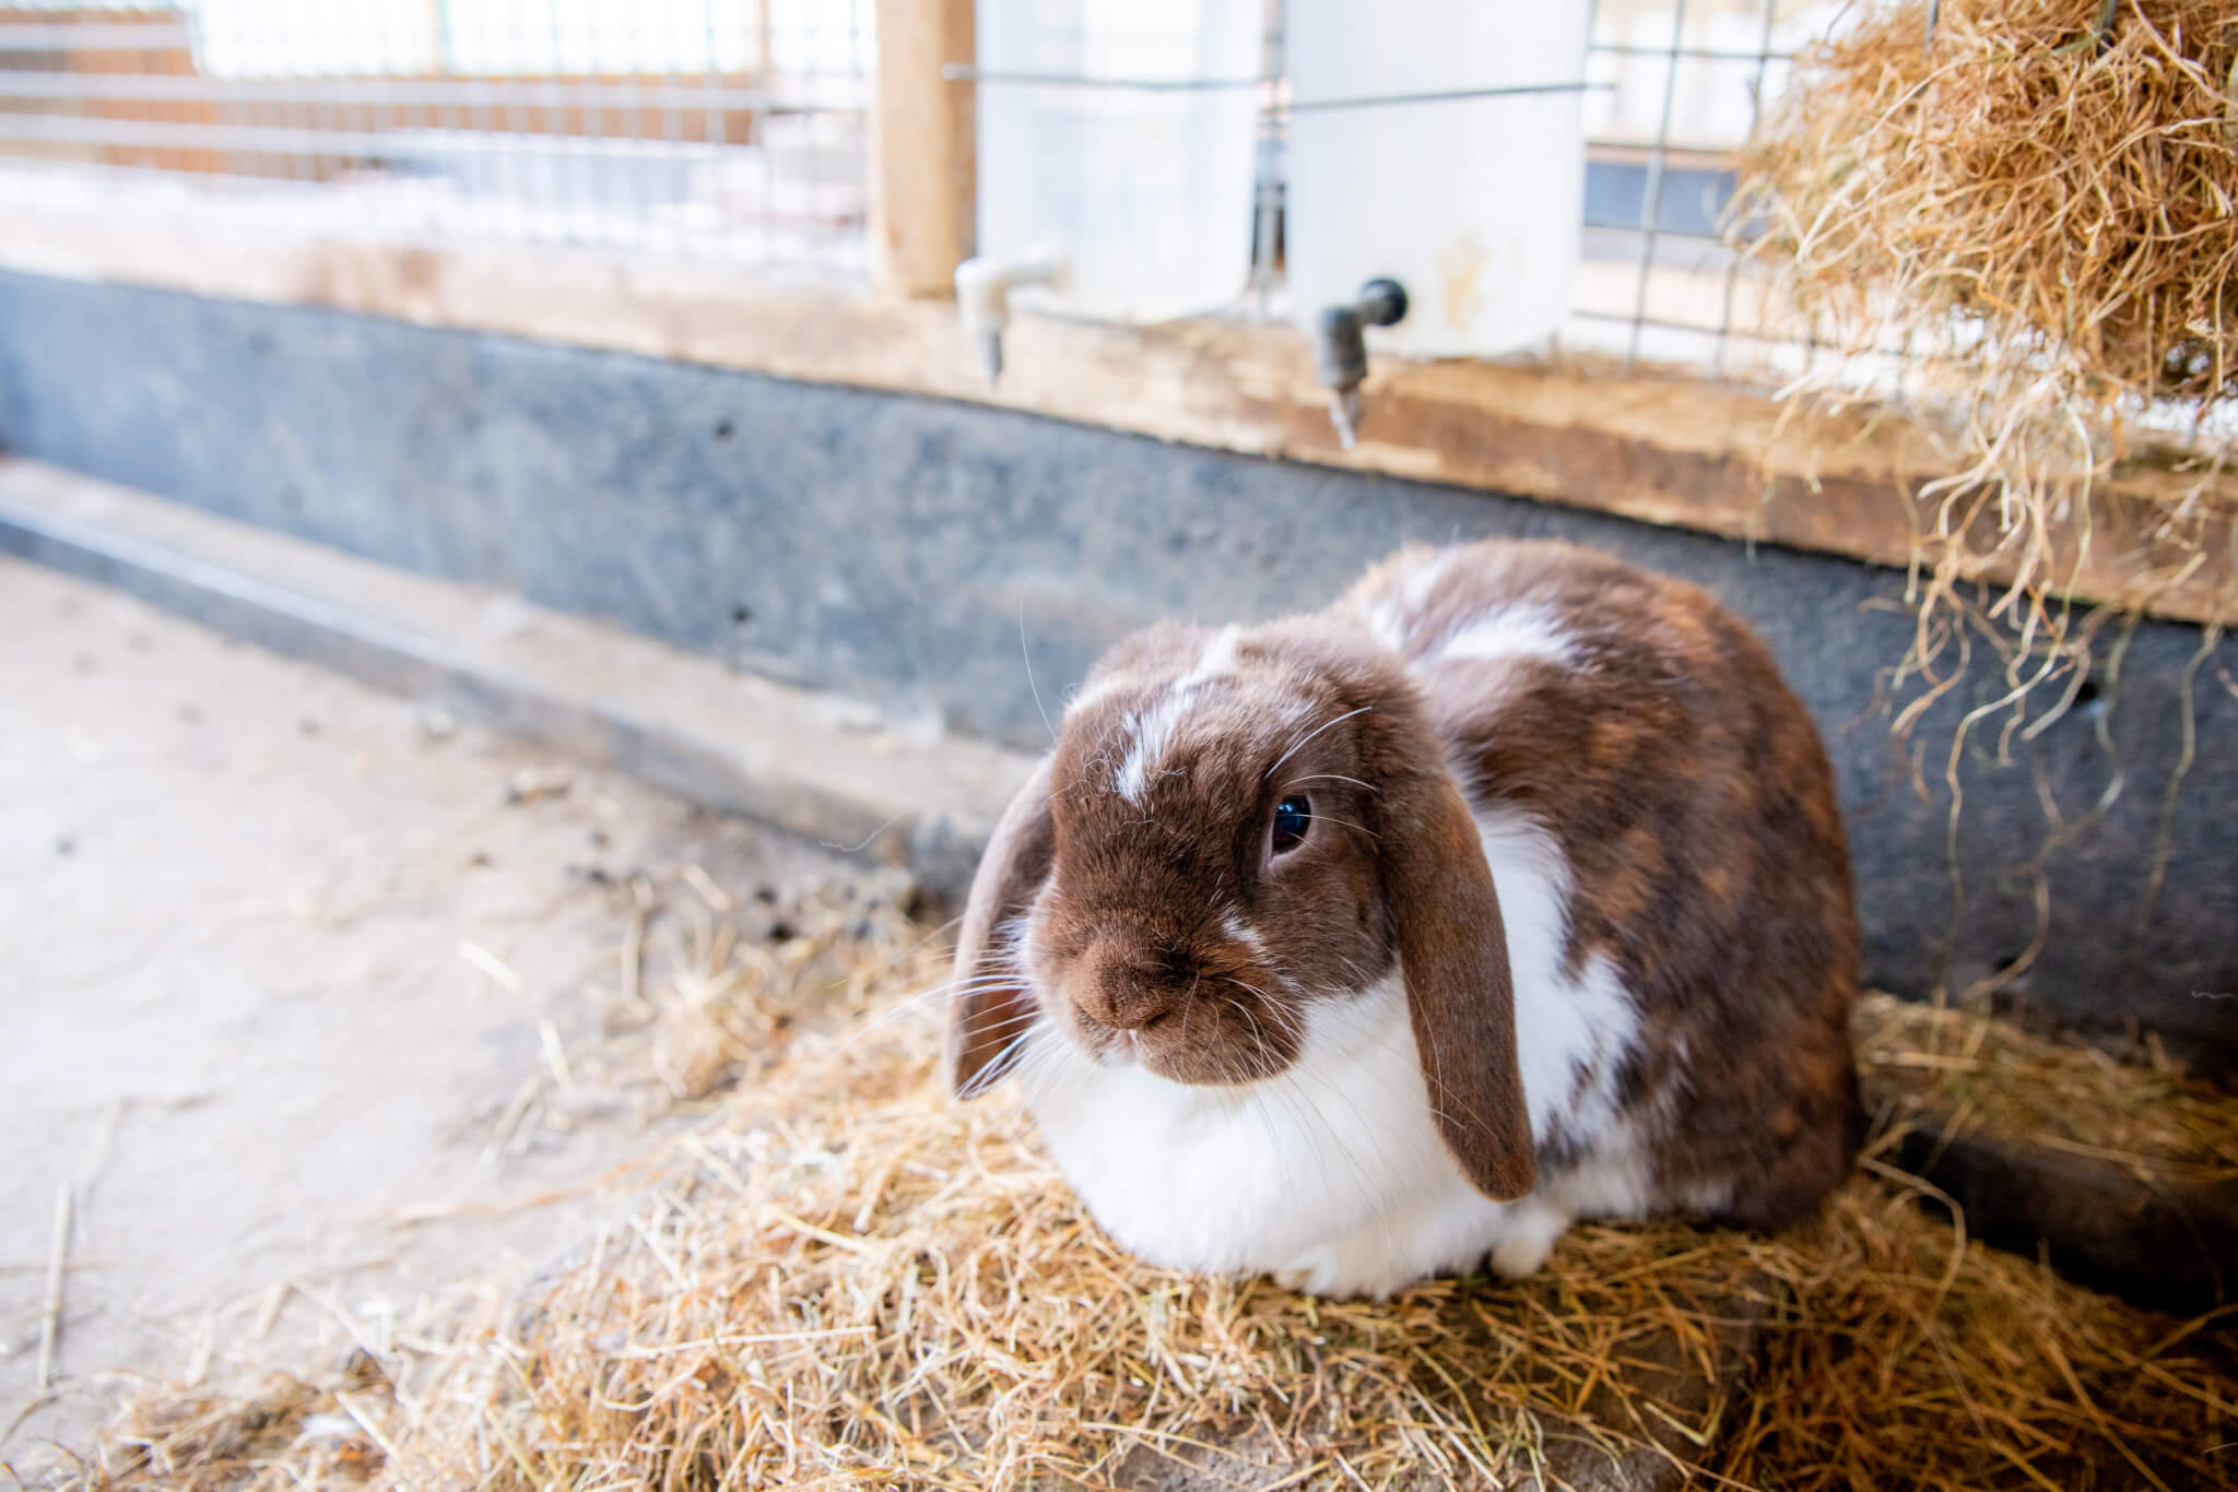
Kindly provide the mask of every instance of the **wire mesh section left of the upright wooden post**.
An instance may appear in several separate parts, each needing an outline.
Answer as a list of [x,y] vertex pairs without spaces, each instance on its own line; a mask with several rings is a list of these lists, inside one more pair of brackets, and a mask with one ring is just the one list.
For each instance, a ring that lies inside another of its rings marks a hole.
[[0,0],[0,157],[862,273],[873,36],[871,0]]

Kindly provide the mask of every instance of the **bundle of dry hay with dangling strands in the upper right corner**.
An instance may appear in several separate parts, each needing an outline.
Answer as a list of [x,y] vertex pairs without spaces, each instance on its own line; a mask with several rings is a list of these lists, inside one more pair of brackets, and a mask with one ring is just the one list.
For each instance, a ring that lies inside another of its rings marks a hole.
[[[2128,602],[2231,541],[2234,69],[2227,0],[1902,0],[1806,49],[1768,103],[1748,251],[1817,344],[1907,358],[1900,403],[1938,447],[1922,655],[1978,611],[2023,655],[2072,653],[2057,602],[2093,532],[2124,535]],[[1815,383],[1835,403],[1860,396],[1842,362]],[[1960,591],[1990,575],[2001,595]]]

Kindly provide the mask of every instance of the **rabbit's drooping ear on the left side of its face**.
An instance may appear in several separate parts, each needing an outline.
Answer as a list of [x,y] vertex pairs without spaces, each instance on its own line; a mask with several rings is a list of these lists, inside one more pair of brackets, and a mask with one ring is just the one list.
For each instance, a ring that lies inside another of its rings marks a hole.
[[1050,756],[1003,810],[965,901],[949,980],[949,1085],[971,1098],[1007,1069],[1027,1031],[1034,993],[1012,962],[1012,924],[1025,915],[1056,854],[1050,821]]

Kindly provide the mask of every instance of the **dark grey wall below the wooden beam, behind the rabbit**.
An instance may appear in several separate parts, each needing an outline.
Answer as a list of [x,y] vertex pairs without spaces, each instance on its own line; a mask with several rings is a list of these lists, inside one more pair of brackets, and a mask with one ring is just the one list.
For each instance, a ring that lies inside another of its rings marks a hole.
[[[2028,998],[2238,1069],[2238,642],[2198,662],[2198,629],[2140,626],[2010,761],[1978,738],[1952,866],[1940,763],[2003,684],[1976,664],[1922,720],[1916,783],[1887,734],[1900,577],[1842,559],[974,405],[4,273],[0,445],[1021,747],[1045,740],[1027,651],[1054,700],[1130,626],[1316,606],[1408,539],[1593,544],[1710,586],[1817,714],[1871,980],[1920,993],[2023,951],[2050,801],[2070,837],[2041,861]],[[2198,752],[2171,799],[2187,671]]]

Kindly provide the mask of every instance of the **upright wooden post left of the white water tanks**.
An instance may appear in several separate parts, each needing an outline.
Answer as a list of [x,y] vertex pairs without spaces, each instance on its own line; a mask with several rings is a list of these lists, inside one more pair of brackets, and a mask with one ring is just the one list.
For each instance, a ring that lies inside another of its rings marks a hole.
[[949,295],[978,226],[971,0],[877,0],[871,107],[871,266],[895,295]]

